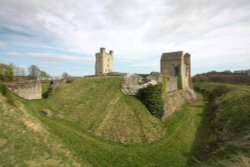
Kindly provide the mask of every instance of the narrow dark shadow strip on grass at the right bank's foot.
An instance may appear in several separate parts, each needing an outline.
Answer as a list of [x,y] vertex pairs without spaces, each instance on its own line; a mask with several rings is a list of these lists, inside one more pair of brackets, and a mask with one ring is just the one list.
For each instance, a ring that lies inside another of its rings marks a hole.
[[199,165],[202,161],[206,161],[209,152],[212,150],[209,143],[210,135],[213,133],[211,121],[214,113],[210,103],[206,103],[201,114],[200,126],[197,129],[194,143],[191,148],[190,157],[187,161],[187,167]]

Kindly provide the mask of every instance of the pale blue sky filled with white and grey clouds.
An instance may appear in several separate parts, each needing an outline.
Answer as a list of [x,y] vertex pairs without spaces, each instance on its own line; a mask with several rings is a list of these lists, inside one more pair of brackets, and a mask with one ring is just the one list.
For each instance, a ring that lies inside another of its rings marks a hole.
[[192,74],[250,69],[250,0],[0,0],[0,63],[52,76],[160,71],[162,53],[191,54]]

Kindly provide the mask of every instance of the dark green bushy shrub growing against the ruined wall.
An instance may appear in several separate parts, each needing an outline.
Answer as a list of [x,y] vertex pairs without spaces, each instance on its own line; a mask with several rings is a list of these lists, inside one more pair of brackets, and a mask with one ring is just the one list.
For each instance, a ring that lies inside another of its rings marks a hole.
[[149,85],[146,88],[140,89],[137,94],[137,97],[147,107],[149,112],[157,118],[161,118],[164,113],[161,89],[161,84]]

